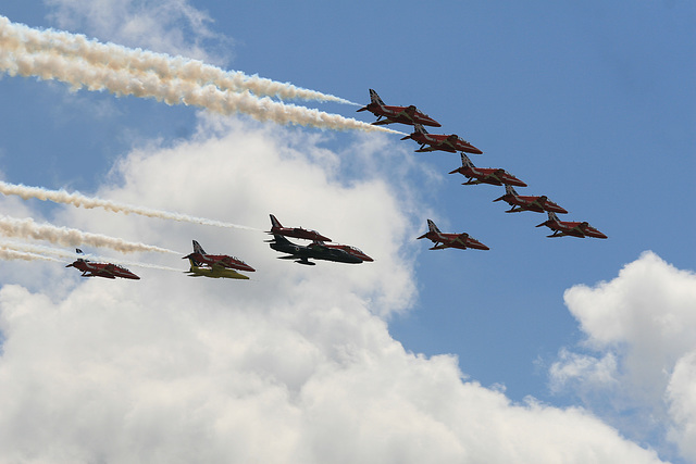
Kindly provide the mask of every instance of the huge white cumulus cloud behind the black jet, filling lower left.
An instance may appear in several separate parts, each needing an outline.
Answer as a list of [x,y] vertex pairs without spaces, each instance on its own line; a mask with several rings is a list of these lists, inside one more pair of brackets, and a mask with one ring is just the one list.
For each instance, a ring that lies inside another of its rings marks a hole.
[[259,228],[272,212],[375,262],[306,267],[277,260],[258,231],[57,206],[55,222],[175,249],[197,238],[258,271],[248,281],[75,277],[61,293],[4,285],[2,460],[660,462],[582,409],[514,404],[465,380],[456,356],[406,351],[386,321],[415,298],[418,199],[399,195],[399,179],[339,175],[350,149],[325,149],[324,136],[221,121],[129,153],[99,195]]

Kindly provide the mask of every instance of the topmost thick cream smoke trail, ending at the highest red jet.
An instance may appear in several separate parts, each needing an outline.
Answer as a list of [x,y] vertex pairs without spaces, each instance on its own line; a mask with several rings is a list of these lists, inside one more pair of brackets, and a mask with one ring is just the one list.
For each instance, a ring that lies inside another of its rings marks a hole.
[[161,79],[178,78],[199,85],[212,84],[221,90],[250,90],[257,96],[358,105],[346,99],[296,87],[289,83],[279,83],[257,75],[248,76],[239,71],[224,71],[199,60],[129,49],[115,43],[101,43],[82,34],[34,29],[24,24],[12,23],[4,16],[0,16],[0,47],[23,47],[29,53],[54,51],[67,58],[80,58],[92,65],[112,70],[127,68],[132,73],[156,73]]

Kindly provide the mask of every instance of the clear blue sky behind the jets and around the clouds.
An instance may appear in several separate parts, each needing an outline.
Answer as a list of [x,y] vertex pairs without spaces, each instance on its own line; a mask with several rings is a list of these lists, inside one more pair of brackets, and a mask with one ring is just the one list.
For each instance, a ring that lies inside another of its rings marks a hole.
[[[179,16],[162,15],[147,1],[124,2],[120,8],[109,1],[97,5],[114,17],[153,12],[152,17],[162,20],[161,28],[150,35],[134,34],[120,28],[116,20],[107,21],[87,3],[71,7],[58,0],[10,1],[0,14],[30,27],[65,29],[133,48],[198,53],[194,58],[224,68],[289,81],[362,104],[368,103],[368,89],[374,88],[387,104],[415,104],[443,124],[431,131],[456,133],[481,148],[483,155],[471,156],[474,164],[511,172],[529,185],[518,189],[521,195],[546,195],[570,212],[569,221],[588,221],[607,234],[608,240],[547,239],[548,229],[534,227],[545,221],[543,215],[505,214],[505,204],[492,202],[502,195],[502,187],[461,186],[461,176],[448,175],[460,165],[458,155],[412,153],[417,145],[399,141],[396,135],[368,137],[355,131],[275,126],[250,123],[241,116],[240,124],[249,124],[254,134],[273,134],[288,140],[295,150],[301,151],[307,140],[318,140],[308,151],[314,153],[313,160],[320,160],[318,165],[328,165],[330,178],[337,185],[360,189],[364,187],[361,183],[375,180],[388,186],[390,195],[382,206],[394,200],[399,208],[396,222],[373,230],[366,230],[358,218],[361,204],[347,209],[345,227],[332,227],[339,223],[326,209],[340,206],[302,204],[299,193],[293,198],[294,189],[301,187],[291,178],[281,180],[282,185],[271,180],[256,184],[236,201],[270,192],[289,196],[288,200],[295,200],[293,213],[302,212],[301,224],[296,225],[349,241],[377,261],[391,253],[403,259],[413,271],[409,285],[417,293],[409,298],[406,286],[402,308],[380,315],[388,334],[407,352],[453,354],[469,380],[484,388],[505,386],[505,396],[512,402],[533,397],[555,407],[583,406],[626,440],[657,450],[663,460],[694,459],[696,454],[688,447],[680,448],[675,444],[679,440],[667,438],[668,428],[676,424],[669,413],[672,403],[659,405],[656,412],[652,402],[642,402],[636,394],[630,396],[634,403],[620,404],[616,389],[594,384],[592,389],[592,381],[582,374],[559,388],[551,387],[559,383],[549,374],[555,363],[572,364],[568,359],[562,361],[563,352],[595,361],[609,353],[619,359],[616,380],[630,384],[634,379],[633,371],[626,367],[631,349],[621,347],[637,346],[638,341],[599,342],[600,337],[583,319],[587,313],[569,311],[566,290],[614,280],[645,251],[652,251],[676,269],[694,272],[696,216],[688,201],[696,193],[692,180],[696,173],[693,4],[667,0],[610,4],[496,1],[425,8],[411,1],[340,5],[190,1],[186,3],[189,10]],[[187,20],[191,12],[201,12],[210,21],[196,26]],[[176,30],[183,35],[170,34]],[[0,93],[0,172],[5,181],[14,184],[105,196],[115,191],[113,185],[128,185],[119,178],[123,172],[114,166],[129,153],[202,143],[210,128],[199,109],[115,98],[108,92],[71,92],[64,84],[33,77],[4,75]],[[373,121],[366,113],[356,114],[357,106],[297,104]],[[395,128],[408,131],[406,126]],[[363,153],[360,150],[365,146],[373,148]],[[321,150],[337,153],[336,159],[322,162]],[[370,154],[374,159],[365,161]],[[200,162],[209,161],[201,158]],[[161,178],[177,178],[174,168],[170,173],[166,164],[158,166]],[[185,191],[189,187],[176,188]],[[130,201],[138,199],[136,193],[121,193]],[[194,204],[182,204],[181,210],[206,216],[212,214],[209,211],[224,210],[227,199],[215,201],[219,204],[197,205],[191,200]],[[277,208],[282,205],[278,201]],[[55,205],[35,201],[13,208],[26,208],[54,223],[78,214],[55,212]],[[179,210],[177,204],[167,208]],[[248,225],[268,227],[271,212],[284,223],[293,222],[284,220],[293,213],[258,211],[258,220]],[[390,217],[389,213],[384,220]],[[83,216],[74,218],[78,224],[90,224]],[[428,251],[427,243],[409,241],[426,230],[426,218],[434,220],[443,231],[471,234],[490,251]],[[401,234],[413,236],[375,240],[391,240],[398,251],[371,249],[372,241],[350,241],[351,237],[394,230],[396,224],[405,225]],[[357,230],[360,225],[362,229]],[[156,234],[149,237],[149,241],[158,241]],[[214,247],[222,243],[221,239]],[[178,248],[166,246],[185,250],[188,242]],[[272,256],[270,250],[268,254]],[[288,264],[273,263],[278,268]],[[321,267],[332,267],[336,278],[343,278],[340,266]],[[21,269],[30,272],[27,264]],[[302,288],[312,286],[314,271],[319,269],[302,274]],[[352,276],[361,268],[345,272]],[[268,278],[257,274],[262,280]],[[12,273],[3,274],[3,286],[16,283]],[[22,279],[18,283],[30,287]],[[147,285],[146,279],[141,284]],[[78,285],[77,280],[64,284],[65,288]],[[687,285],[693,292],[693,281]],[[38,284],[33,286],[33,291],[41,292]],[[100,288],[108,291],[108,287]],[[209,288],[204,283],[191,291]],[[58,298],[52,293],[55,291],[46,289],[53,299]],[[380,291],[386,290],[375,290]],[[659,312],[660,304],[652,310]],[[686,352],[693,349],[692,343]],[[662,367],[675,369],[681,354],[672,353]],[[634,391],[630,387],[625,386]],[[650,413],[659,417],[656,425],[626,425],[626,417],[641,422]]]

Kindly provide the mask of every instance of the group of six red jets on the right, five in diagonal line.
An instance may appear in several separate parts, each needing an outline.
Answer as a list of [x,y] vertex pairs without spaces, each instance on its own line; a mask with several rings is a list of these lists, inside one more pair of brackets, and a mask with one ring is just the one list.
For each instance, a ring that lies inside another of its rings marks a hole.
[[[502,168],[476,167],[465,153],[483,154],[483,151],[462,139],[456,134],[435,135],[428,134],[423,126],[440,127],[440,124],[419,111],[415,106],[389,106],[384,104],[380,96],[373,89],[370,89],[370,103],[358,111],[370,111],[377,116],[374,125],[401,123],[413,126],[413,133],[402,137],[401,140],[414,140],[420,147],[417,153],[432,151],[447,151],[450,153],[460,152],[461,167],[451,171],[449,174],[459,173],[467,177],[467,181],[462,185],[489,184],[495,186],[505,186],[506,193],[493,201],[505,201],[511,209],[506,213],[517,213],[520,211],[533,211],[537,213],[547,213],[548,221],[539,224],[537,227],[547,226],[554,233],[548,237],[594,237],[607,238],[607,236],[596,228],[592,227],[587,222],[564,222],[560,221],[556,214],[567,214],[568,211],[557,203],[550,201],[546,196],[520,196],[514,191],[514,187],[526,187],[526,184],[508,173]],[[385,120],[382,120],[384,117]],[[478,250],[488,250],[489,248],[469,236],[469,234],[443,234],[439,231],[435,223],[427,220],[428,231],[418,237],[427,238],[435,244],[431,250],[442,250],[445,248],[468,249],[474,248]]]

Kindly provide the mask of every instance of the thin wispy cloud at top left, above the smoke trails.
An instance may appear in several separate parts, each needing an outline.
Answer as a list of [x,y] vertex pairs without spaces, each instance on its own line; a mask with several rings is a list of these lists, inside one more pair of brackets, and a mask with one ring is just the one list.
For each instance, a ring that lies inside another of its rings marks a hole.
[[[130,47],[221,63],[231,39],[214,33],[212,18],[186,0],[45,0],[59,27]],[[225,48],[220,55],[209,50]]]

